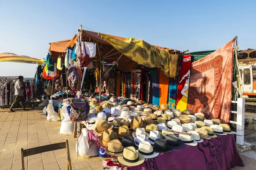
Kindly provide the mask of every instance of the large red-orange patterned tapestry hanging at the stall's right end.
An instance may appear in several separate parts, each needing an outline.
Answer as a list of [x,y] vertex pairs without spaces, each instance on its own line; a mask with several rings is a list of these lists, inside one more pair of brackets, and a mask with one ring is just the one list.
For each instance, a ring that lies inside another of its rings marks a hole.
[[192,62],[187,108],[228,123],[231,113],[233,40]]

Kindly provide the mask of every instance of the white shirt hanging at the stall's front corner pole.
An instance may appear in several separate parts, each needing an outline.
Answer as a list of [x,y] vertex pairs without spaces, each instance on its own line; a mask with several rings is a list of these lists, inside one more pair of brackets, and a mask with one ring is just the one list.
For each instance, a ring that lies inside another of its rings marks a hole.
[[[85,50],[84,50],[84,46],[85,46],[85,49],[86,49],[86,53],[85,53]],[[76,41],[75,54],[78,55],[78,56],[80,56],[79,48],[80,48],[80,44],[79,44],[78,41]],[[81,51],[82,51],[82,56],[85,56],[85,54],[89,54],[89,57],[93,58],[93,57],[96,56],[96,44],[93,43],[93,42],[85,42],[85,41],[83,41],[81,43]]]

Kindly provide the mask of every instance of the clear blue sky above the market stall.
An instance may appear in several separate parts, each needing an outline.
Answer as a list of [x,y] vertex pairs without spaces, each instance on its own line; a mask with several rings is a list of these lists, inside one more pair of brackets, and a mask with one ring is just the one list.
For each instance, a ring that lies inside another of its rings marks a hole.
[[[256,48],[253,0],[5,0],[0,4],[0,53],[44,58],[49,42],[71,39],[80,24],[190,52],[218,49],[235,36],[239,49]],[[34,77],[36,67],[0,62],[0,76]]]

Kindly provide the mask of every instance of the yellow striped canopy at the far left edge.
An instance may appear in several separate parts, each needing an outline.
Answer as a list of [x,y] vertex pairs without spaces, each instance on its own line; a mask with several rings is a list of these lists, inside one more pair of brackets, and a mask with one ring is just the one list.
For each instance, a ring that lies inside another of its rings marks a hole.
[[0,53],[0,62],[23,62],[41,65],[44,61],[44,59],[37,59],[13,53]]

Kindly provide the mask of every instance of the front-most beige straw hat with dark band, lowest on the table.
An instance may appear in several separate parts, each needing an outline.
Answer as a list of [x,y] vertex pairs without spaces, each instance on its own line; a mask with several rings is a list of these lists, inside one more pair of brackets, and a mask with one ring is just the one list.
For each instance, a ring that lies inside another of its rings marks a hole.
[[118,156],[117,159],[121,164],[127,166],[137,166],[145,161],[144,156],[138,153],[135,147],[132,146],[124,148],[123,156]]

